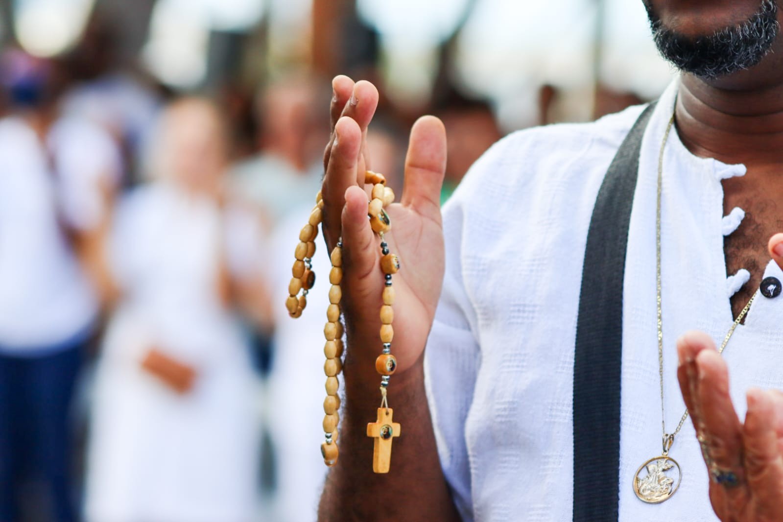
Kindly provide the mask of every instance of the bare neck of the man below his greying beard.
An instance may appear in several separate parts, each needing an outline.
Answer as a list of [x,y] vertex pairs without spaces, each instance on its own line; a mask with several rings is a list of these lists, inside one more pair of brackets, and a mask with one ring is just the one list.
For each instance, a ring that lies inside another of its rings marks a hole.
[[781,47],[731,77],[683,75],[675,116],[680,139],[692,153],[748,167],[783,164]]

